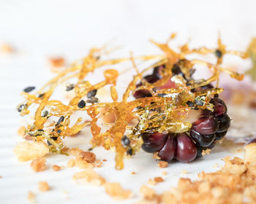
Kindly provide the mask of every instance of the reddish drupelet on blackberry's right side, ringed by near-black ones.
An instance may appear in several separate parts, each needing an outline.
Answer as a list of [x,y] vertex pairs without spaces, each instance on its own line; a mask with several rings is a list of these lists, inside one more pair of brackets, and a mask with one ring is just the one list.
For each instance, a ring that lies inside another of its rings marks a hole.
[[212,135],[218,130],[218,120],[213,116],[202,116],[192,123],[192,129],[203,135]]

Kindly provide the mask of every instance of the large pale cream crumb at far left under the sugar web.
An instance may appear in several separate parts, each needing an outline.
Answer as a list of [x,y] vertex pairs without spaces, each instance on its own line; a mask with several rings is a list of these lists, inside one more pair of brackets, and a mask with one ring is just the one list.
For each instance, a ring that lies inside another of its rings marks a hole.
[[42,141],[23,141],[16,144],[13,152],[18,157],[18,161],[26,162],[38,157],[44,157],[45,154],[48,154],[49,149]]

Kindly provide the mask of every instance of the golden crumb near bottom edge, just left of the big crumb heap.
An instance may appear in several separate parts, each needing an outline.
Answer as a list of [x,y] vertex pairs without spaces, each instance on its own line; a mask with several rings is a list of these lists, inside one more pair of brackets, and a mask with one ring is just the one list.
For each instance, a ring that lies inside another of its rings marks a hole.
[[130,190],[123,189],[121,184],[117,182],[108,182],[104,185],[104,187],[107,194],[116,200],[124,200],[132,196],[132,192]]

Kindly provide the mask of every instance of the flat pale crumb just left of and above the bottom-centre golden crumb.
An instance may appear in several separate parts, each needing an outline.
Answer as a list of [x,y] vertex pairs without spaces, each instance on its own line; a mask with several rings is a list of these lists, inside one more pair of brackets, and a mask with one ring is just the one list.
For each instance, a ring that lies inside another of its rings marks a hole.
[[105,184],[105,178],[99,176],[99,174],[91,168],[75,173],[73,179],[77,183],[84,185],[90,184],[93,186],[100,186],[102,184]]

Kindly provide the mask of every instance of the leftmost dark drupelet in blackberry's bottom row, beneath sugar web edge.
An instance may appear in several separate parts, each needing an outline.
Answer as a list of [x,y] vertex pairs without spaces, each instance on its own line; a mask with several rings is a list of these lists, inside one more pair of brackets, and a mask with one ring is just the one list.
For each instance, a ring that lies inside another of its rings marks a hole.
[[158,152],[165,145],[167,134],[162,133],[143,133],[143,144],[141,148],[145,152]]

